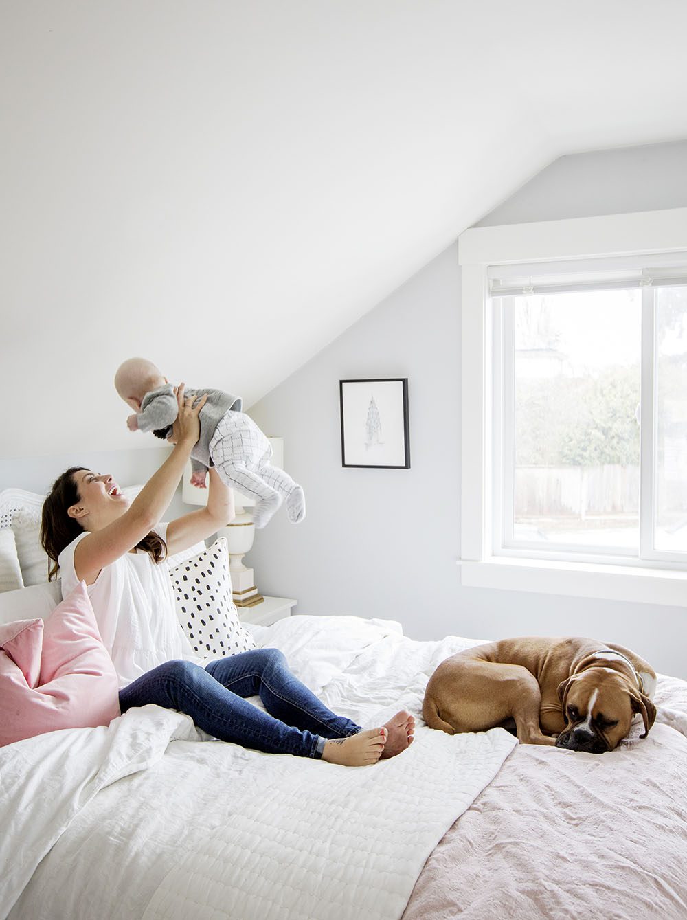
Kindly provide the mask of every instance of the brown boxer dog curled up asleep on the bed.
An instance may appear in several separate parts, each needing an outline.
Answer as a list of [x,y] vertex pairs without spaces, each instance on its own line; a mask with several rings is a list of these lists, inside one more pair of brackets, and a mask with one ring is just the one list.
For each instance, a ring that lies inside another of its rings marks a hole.
[[[523,744],[604,753],[635,713],[654,724],[656,674],[620,645],[591,638],[506,638],[442,661],[429,678],[422,715],[449,734],[515,721]],[[553,736],[553,737],[552,737]]]

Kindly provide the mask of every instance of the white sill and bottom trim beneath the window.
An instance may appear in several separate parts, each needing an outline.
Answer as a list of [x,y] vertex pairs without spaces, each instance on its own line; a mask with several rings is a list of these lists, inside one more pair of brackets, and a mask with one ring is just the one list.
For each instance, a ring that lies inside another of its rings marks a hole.
[[684,571],[500,557],[483,562],[459,559],[458,565],[461,584],[470,588],[687,606]]

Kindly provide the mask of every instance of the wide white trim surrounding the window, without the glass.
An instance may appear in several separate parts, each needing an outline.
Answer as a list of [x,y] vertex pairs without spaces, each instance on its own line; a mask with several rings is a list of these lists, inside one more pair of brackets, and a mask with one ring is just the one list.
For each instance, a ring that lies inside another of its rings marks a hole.
[[[459,563],[464,585],[687,606],[687,571],[670,568],[668,562],[623,565],[598,560],[530,558],[526,553],[504,556],[494,552],[493,511],[496,502],[500,507],[502,484],[500,465],[493,459],[496,449],[493,389],[494,374],[500,373],[502,361],[500,355],[494,354],[494,318],[487,282],[490,265],[623,258],[685,249],[687,208],[475,227],[459,237],[462,270]],[[651,367],[642,367],[643,376],[652,373]],[[647,418],[644,407],[643,422],[644,463],[653,450],[653,419]],[[647,495],[642,497],[642,512],[646,512],[644,502],[649,499]],[[645,521],[643,540],[647,538],[646,526]]]

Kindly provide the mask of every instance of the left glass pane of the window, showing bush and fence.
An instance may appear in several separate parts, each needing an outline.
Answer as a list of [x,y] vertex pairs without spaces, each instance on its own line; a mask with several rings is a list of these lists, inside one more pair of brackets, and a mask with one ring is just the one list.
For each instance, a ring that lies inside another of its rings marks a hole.
[[[512,305],[513,379],[505,392],[512,464],[505,473],[512,476],[513,540],[638,553],[641,291],[523,294]],[[687,392],[687,343],[680,355],[674,397],[680,386]],[[671,418],[684,433],[683,407],[684,400]],[[686,499],[684,488],[666,492],[671,521]]]

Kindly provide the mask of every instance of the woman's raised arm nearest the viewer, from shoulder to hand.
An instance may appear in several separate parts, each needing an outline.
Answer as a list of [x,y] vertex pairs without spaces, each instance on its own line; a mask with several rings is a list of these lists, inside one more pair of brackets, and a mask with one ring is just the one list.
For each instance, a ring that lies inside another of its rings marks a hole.
[[143,486],[131,508],[116,521],[88,534],[78,543],[74,550],[76,578],[92,584],[100,569],[128,553],[155,527],[174,496],[190,452],[200,436],[198,413],[205,405],[205,399],[201,397],[193,406],[192,399],[184,398],[184,385],[179,385],[174,450]]

